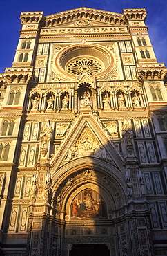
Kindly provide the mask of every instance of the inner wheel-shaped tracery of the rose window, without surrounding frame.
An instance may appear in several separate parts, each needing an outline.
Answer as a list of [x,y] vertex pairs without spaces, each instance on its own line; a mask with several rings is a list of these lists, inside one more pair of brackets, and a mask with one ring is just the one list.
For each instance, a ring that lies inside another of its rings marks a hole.
[[66,67],[66,71],[72,75],[82,75],[83,73],[95,75],[102,71],[102,66],[97,60],[92,58],[80,58],[70,62]]

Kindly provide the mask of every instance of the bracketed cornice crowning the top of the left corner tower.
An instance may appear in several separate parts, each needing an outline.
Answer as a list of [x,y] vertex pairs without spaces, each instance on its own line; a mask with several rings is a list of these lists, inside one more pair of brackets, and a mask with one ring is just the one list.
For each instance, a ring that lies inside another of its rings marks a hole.
[[43,12],[21,12],[21,24],[39,23],[43,17]]

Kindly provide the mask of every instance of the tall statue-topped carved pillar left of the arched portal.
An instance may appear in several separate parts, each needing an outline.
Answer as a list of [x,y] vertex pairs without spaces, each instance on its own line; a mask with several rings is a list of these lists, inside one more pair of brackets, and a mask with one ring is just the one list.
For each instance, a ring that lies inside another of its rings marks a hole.
[[51,201],[51,177],[50,177],[50,139],[51,129],[48,122],[44,122],[41,127],[39,142],[39,159],[37,161],[36,172],[33,176],[29,205],[28,242],[26,256],[46,255],[48,240],[48,222],[50,218]]

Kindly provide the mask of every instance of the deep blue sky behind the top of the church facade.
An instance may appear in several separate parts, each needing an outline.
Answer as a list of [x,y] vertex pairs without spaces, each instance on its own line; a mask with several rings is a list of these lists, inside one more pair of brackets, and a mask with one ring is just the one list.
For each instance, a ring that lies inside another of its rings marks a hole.
[[155,55],[158,62],[167,65],[166,0],[0,0],[0,73],[12,66],[21,12],[43,11],[46,16],[82,6],[117,13],[123,13],[123,8],[146,8],[146,25]]

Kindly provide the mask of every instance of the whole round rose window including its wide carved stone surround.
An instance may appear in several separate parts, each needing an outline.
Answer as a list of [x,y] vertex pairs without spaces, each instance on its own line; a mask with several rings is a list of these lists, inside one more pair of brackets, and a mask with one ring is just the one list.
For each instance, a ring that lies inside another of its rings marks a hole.
[[96,44],[77,44],[63,48],[55,55],[55,73],[63,80],[75,80],[76,75],[104,78],[115,68],[111,51]]

